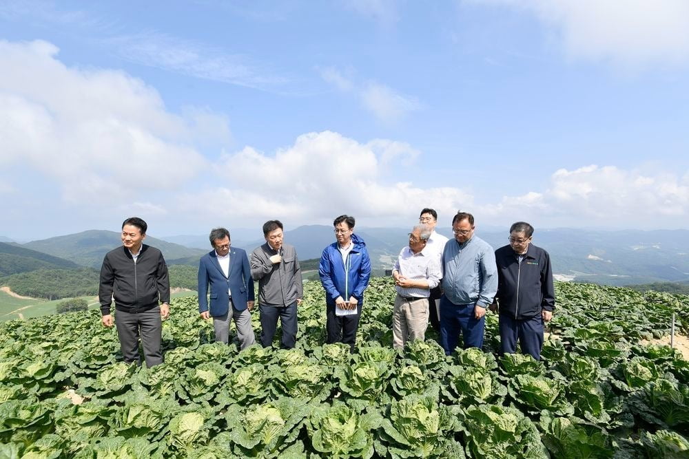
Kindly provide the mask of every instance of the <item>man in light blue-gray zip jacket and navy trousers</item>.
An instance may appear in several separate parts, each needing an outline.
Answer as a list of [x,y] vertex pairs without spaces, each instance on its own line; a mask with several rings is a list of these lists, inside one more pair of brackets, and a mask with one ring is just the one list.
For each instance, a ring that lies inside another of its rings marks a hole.
[[474,217],[457,212],[452,219],[454,241],[442,252],[440,299],[440,344],[450,355],[460,331],[464,348],[481,348],[486,308],[497,291],[497,268],[493,248],[474,235]]

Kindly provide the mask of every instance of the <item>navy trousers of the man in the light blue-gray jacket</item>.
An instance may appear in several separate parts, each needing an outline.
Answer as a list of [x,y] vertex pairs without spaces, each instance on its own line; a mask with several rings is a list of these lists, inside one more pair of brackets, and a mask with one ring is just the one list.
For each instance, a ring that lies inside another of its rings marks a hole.
[[464,349],[481,348],[486,316],[474,317],[474,304],[455,304],[445,295],[440,299],[440,345],[446,355],[457,347],[462,332]]

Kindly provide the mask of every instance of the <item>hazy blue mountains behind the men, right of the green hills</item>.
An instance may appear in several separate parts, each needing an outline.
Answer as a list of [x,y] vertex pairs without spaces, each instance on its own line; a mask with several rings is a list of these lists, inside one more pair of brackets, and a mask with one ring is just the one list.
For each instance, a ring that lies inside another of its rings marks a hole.
[[[367,244],[376,268],[390,269],[401,248],[407,245],[411,228],[357,228]],[[476,234],[493,248],[508,244],[508,231]],[[451,236],[451,228],[438,228]],[[307,225],[285,231],[285,242],[296,247],[300,259],[318,258],[335,237],[331,226]],[[601,231],[555,228],[537,230],[534,244],[548,250],[553,270],[562,280],[589,281],[608,285],[689,281],[689,231]],[[233,244],[253,250],[265,242],[254,239]]]

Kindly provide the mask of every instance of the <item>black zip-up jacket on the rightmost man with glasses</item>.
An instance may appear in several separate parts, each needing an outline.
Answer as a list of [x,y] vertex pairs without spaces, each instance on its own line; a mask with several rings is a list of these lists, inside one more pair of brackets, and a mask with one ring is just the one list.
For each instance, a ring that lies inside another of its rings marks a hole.
[[555,308],[553,268],[548,252],[528,244],[526,256],[519,255],[511,246],[495,250],[497,264],[497,295],[500,314],[509,314],[517,320],[531,319],[542,310]]

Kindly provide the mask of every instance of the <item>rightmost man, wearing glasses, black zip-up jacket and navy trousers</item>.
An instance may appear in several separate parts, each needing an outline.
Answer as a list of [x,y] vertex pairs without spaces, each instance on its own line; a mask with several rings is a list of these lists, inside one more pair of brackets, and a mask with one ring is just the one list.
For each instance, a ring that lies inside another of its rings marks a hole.
[[522,352],[541,358],[543,324],[553,318],[555,289],[548,252],[531,244],[533,226],[517,222],[510,244],[495,250],[497,295],[491,310],[500,309],[500,353],[513,354],[517,339]]

